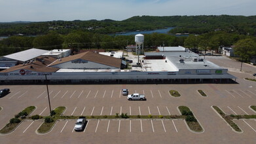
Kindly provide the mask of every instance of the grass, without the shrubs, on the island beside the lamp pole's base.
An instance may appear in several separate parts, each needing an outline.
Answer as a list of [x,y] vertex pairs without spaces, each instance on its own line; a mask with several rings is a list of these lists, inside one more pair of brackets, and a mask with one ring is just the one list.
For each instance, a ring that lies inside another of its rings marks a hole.
[[[43,122],[43,124],[39,127],[39,129],[37,130],[37,132],[39,132],[40,134],[45,134],[46,132],[49,132],[50,129],[52,128],[52,126],[54,126],[54,124],[56,123],[56,120],[60,119],[60,115],[62,115],[62,113],[65,111],[65,107],[57,107],[56,109],[54,109],[55,111],[55,115],[52,115],[52,122]],[[46,118],[46,117],[45,117]]]

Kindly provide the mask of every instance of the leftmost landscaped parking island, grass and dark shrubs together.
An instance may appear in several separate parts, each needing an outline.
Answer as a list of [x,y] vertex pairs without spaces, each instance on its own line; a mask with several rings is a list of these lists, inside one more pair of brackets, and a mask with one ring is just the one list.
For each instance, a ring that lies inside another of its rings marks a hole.
[[9,134],[22,122],[22,119],[26,118],[27,115],[35,110],[35,106],[30,106],[15,115],[14,118],[10,119],[10,122],[0,130],[0,134]]

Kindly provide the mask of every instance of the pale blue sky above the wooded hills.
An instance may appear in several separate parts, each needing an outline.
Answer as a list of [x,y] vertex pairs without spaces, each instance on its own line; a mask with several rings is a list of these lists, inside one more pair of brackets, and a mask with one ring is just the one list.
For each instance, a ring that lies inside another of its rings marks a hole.
[[256,0],[0,0],[0,22],[256,15]]

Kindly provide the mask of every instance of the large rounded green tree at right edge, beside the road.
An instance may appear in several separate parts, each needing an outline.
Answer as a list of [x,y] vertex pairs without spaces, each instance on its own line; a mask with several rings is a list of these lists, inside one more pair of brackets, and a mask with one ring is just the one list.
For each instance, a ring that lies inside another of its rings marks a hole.
[[242,39],[235,44],[234,54],[238,55],[241,60],[241,68],[243,62],[246,62],[251,56],[256,55],[256,43],[252,39]]

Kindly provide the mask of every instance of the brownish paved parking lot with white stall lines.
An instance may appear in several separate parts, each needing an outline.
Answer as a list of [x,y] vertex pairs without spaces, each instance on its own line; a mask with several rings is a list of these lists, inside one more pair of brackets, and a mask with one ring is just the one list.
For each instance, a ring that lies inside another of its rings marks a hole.
[[[240,81],[240,80],[239,80]],[[245,83],[245,84],[244,84]],[[217,105],[227,115],[255,115],[249,108],[256,103],[256,84],[244,81],[242,84],[109,84],[109,85],[49,85],[52,109],[65,106],[63,115],[180,115],[177,107],[186,105],[198,119],[204,132],[199,134],[187,128],[185,120],[176,119],[104,119],[88,120],[83,132],[74,132],[75,120],[59,120],[47,134],[37,134],[42,121],[24,121],[8,135],[1,135],[1,141],[18,142],[46,141],[54,139],[56,143],[88,142],[105,143],[206,143],[209,137],[215,142],[255,141],[256,121],[235,120],[242,134],[233,132],[229,126],[211,109]],[[6,86],[0,86],[5,88]],[[0,111],[3,128],[10,118],[30,105],[37,109],[31,115],[49,114],[45,85],[8,86],[10,94],[1,98]],[[145,94],[147,101],[128,101],[122,96],[122,88],[128,88],[129,94]],[[202,97],[196,90],[203,90],[208,96]],[[174,98],[169,90],[177,90],[181,97]],[[12,109],[9,109],[12,107]],[[186,138],[184,138],[186,137]],[[194,139],[196,137],[196,139]]]

